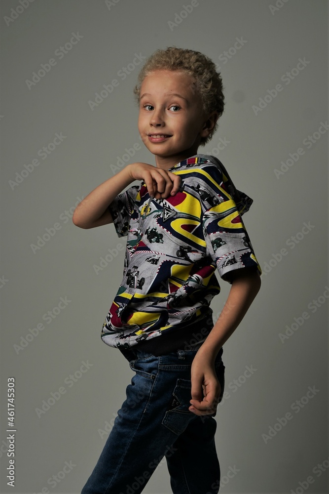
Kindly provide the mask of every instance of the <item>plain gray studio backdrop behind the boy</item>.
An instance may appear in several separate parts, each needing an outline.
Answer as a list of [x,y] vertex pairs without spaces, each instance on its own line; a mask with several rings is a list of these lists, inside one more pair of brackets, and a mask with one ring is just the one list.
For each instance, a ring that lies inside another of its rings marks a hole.
[[[113,175],[110,165],[125,148],[141,143],[132,93],[141,65],[125,80],[118,71],[135,53],[146,57],[170,45],[199,50],[220,66],[225,111],[213,140],[199,152],[216,154],[236,186],[254,199],[244,222],[264,270],[260,292],[224,345],[228,395],[218,408],[216,444],[226,485],[220,492],[301,493],[310,476],[307,493],[328,492],[328,131],[315,134],[309,149],[303,143],[328,119],[328,3],[273,0],[282,6],[271,11],[267,0],[199,0],[170,28],[168,21],[189,3],[35,0],[17,15],[11,8],[18,0],[1,2],[2,493],[79,493],[108,437],[101,431],[124,401],[133,373],[119,351],[102,343],[100,332],[122,279],[124,248],[117,255],[113,249],[126,239],[113,225],[82,230],[71,217],[77,202]],[[6,22],[11,14],[17,18]],[[55,51],[77,32],[83,38],[60,59]],[[234,50],[241,37],[244,45]],[[229,49],[232,56],[225,59]],[[50,58],[56,65],[29,89],[26,81]],[[283,82],[299,58],[309,63]],[[113,79],[119,85],[92,111],[88,101]],[[283,90],[255,114],[253,105],[278,83]],[[38,151],[56,132],[65,139],[42,159]],[[229,141],[221,151],[219,138]],[[304,154],[277,178],[274,170],[298,148]],[[16,172],[34,159],[39,165],[13,186]],[[135,161],[155,164],[142,147]],[[305,235],[304,222],[311,225]],[[34,252],[31,245],[55,223],[58,230]],[[109,248],[113,260],[96,274],[94,265]],[[215,317],[230,288],[220,285]],[[57,310],[61,297],[70,302]],[[43,315],[54,308],[56,317],[46,322]],[[38,323],[44,329],[26,340]],[[280,333],[293,323],[282,342]],[[14,346],[24,340],[25,347]],[[92,364],[84,373],[82,361]],[[256,371],[244,379],[246,366]],[[74,373],[75,382],[68,378]],[[14,488],[5,478],[9,376],[16,379]],[[238,388],[234,379],[240,379]],[[65,394],[38,416],[42,401],[61,386]],[[303,399],[308,387],[316,388],[315,396]],[[297,413],[293,404],[301,399]],[[287,412],[287,425],[264,439],[270,427],[280,429],[278,419]],[[66,461],[72,470],[55,486],[47,484]],[[317,464],[323,464],[321,475]],[[228,479],[230,468],[239,471]],[[171,492],[165,463],[144,492]]]

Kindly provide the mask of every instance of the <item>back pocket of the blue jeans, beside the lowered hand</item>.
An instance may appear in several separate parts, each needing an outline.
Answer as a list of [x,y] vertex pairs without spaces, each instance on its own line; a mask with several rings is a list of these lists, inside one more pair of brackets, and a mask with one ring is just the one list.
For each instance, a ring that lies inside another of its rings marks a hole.
[[188,410],[190,407],[191,387],[190,380],[177,379],[168,409],[163,417],[162,424],[175,434],[182,434],[188,423],[195,418],[195,414]]

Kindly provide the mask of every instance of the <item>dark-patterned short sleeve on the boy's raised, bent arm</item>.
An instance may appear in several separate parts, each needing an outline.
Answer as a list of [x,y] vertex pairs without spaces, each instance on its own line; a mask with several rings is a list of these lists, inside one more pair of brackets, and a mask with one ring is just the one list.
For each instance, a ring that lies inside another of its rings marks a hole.
[[132,185],[125,192],[118,194],[108,206],[118,237],[128,235],[130,218],[139,189],[139,185]]

